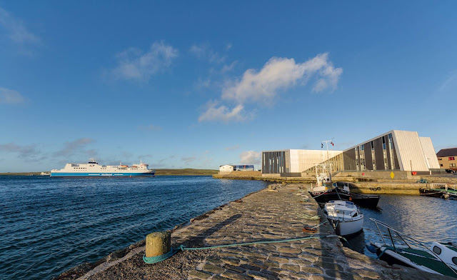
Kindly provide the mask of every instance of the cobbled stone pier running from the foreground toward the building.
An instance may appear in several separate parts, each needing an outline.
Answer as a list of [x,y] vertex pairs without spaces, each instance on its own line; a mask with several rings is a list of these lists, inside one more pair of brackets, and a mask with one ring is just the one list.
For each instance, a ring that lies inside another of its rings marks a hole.
[[[181,251],[153,265],[144,264],[143,241],[124,251],[124,256],[105,258],[90,271],[67,271],[58,279],[453,279],[388,266],[343,247],[333,228],[321,224],[326,218],[306,192],[303,184],[274,184],[231,201],[175,229],[171,246],[322,238]],[[304,226],[316,226],[316,232],[303,232]]]

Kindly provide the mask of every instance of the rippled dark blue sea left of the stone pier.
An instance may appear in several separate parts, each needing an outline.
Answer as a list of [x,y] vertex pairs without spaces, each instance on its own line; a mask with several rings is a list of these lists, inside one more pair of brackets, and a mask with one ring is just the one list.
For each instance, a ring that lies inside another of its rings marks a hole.
[[51,279],[266,186],[211,176],[0,176],[0,279]]

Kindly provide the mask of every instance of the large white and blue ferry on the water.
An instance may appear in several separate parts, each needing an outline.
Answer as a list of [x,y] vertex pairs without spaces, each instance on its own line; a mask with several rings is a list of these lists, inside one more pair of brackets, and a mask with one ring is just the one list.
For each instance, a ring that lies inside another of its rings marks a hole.
[[150,170],[148,164],[99,165],[94,159],[87,164],[66,164],[63,169],[52,169],[51,177],[155,177],[156,171]]

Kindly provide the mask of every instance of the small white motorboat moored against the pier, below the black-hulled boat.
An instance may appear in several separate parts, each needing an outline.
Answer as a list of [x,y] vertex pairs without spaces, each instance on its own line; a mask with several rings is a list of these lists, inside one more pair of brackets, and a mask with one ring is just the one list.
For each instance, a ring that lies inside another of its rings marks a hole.
[[363,214],[351,201],[328,201],[323,213],[331,221],[336,234],[348,236],[362,231]]

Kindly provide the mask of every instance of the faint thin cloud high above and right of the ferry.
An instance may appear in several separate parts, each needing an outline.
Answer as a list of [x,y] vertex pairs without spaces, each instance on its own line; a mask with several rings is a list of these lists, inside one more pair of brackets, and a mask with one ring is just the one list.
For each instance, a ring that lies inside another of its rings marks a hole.
[[177,49],[163,41],[155,42],[146,52],[130,48],[116,55],[118,66],[112,69],[111,74],[115,79],[149,81],[152,75],[171,66],[178,53]]

